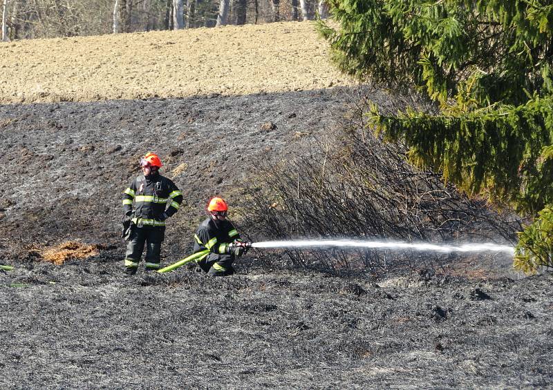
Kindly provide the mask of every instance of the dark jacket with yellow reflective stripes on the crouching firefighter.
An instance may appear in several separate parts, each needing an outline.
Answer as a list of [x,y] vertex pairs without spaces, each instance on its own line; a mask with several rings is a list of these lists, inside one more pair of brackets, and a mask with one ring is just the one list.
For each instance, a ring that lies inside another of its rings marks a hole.
[[[240,235],[236,228],[227,220],[215,222],[212,217],[207,219],[198,226],[194,235],[194,253],[209,249],[212,253],[224,254],[227,253],[229,244],[240,240]],[[205,256],[209,255],[207,253]],[[205,257],[203,256],[203,257]],[[202,260],[200,257],[199,260]]]

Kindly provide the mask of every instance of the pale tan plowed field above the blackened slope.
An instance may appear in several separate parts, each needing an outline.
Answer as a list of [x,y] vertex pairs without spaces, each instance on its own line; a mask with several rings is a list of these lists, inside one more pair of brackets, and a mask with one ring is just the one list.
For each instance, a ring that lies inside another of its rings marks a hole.
[[351,84],[312,22],[0,43],[0,103],[247,95]]

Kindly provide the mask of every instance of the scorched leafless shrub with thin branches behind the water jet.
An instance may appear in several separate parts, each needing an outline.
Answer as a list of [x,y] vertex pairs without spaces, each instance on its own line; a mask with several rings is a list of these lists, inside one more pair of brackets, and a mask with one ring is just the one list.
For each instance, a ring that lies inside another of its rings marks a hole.
[[[385,143],[364,126],[363,108],[333,131],[294,161],[262,169],[259,181],[247,189],[248,230],[265,240],[516,241],[516,218],[501,215],[486,199],[469,199],[444,184],[440,173],[409,164],[404,146]],[[371,275],[458,259],[336,248],[283,253],[294,267]]]

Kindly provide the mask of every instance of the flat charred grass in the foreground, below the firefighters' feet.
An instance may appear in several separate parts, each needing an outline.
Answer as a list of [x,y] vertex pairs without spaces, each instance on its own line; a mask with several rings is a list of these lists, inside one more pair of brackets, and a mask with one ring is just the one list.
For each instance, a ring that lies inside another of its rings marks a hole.
[[3,276],[3,388],[551,384],[551,275],[378,285],[241,267],[128,280],[114,260]]

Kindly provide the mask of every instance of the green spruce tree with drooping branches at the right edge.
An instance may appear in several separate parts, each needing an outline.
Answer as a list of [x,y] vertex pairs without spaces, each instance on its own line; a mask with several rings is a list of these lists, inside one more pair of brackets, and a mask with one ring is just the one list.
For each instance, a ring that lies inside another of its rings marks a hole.
[[[416,88],[438,115],[406,110],[371,124],[469,195],[534,218],[514,266],[553,266],[553,4],[545,0],[329,0],[319,21],[341,70]],[[337,23],[336,23],[337,22]]]

